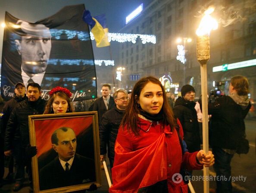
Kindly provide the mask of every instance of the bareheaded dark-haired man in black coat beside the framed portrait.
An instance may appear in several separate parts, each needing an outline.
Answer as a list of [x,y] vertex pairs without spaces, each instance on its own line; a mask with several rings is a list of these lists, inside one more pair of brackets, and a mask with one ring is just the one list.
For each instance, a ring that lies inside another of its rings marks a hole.
[[45,100],[41,99],[40,85],[31,82],[27,86],[26,100],[16,105],[7,123],[4,154],[6,156],[13,155],[14,165],[16,165],[14,191],[18,191],[22,187],[25,166],[32,188],[31,157],[36,155],[36,148],[29,146],[28,115],[43,114],[44,107]]

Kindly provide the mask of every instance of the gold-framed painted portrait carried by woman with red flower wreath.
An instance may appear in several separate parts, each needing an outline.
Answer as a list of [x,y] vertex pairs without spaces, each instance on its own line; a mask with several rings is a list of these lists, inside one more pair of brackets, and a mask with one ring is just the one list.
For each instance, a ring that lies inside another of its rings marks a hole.
[[34,193],[64,193],[101,186],[97,112],[30,115]]

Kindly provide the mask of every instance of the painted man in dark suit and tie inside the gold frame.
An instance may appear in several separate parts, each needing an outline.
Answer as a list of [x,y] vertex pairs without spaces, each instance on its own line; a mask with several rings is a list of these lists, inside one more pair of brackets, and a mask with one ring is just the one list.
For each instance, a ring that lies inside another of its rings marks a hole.
[[40,190],[96,181],[94,160],[76,153],[77,138],[72,128],[56,129],[51,142],[58,156],[39,171]]

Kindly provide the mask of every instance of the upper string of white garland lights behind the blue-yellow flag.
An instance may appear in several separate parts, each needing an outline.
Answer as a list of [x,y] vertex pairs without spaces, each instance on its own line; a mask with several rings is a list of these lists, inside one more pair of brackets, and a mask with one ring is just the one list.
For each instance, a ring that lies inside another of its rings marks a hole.
[[[95,40],[94,34],[90,31],[91,40]],[[131,42],[136,43],[137,38],[140,37],[142,44],[152,43],[156,44],[155,35],[147,34],[123,34],[123,33],[108,33],[108,41],[117,41],[119,43]]]

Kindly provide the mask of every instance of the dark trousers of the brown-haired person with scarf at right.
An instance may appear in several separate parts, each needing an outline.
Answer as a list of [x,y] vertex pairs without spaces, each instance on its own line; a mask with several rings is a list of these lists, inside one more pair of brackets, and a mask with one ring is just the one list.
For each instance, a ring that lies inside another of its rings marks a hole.
[[232,193],[230,163],[234,155],[225,152],[219,147],[212,147],[212,153],[215,158],[213,168],[217,177],[217,193]]

